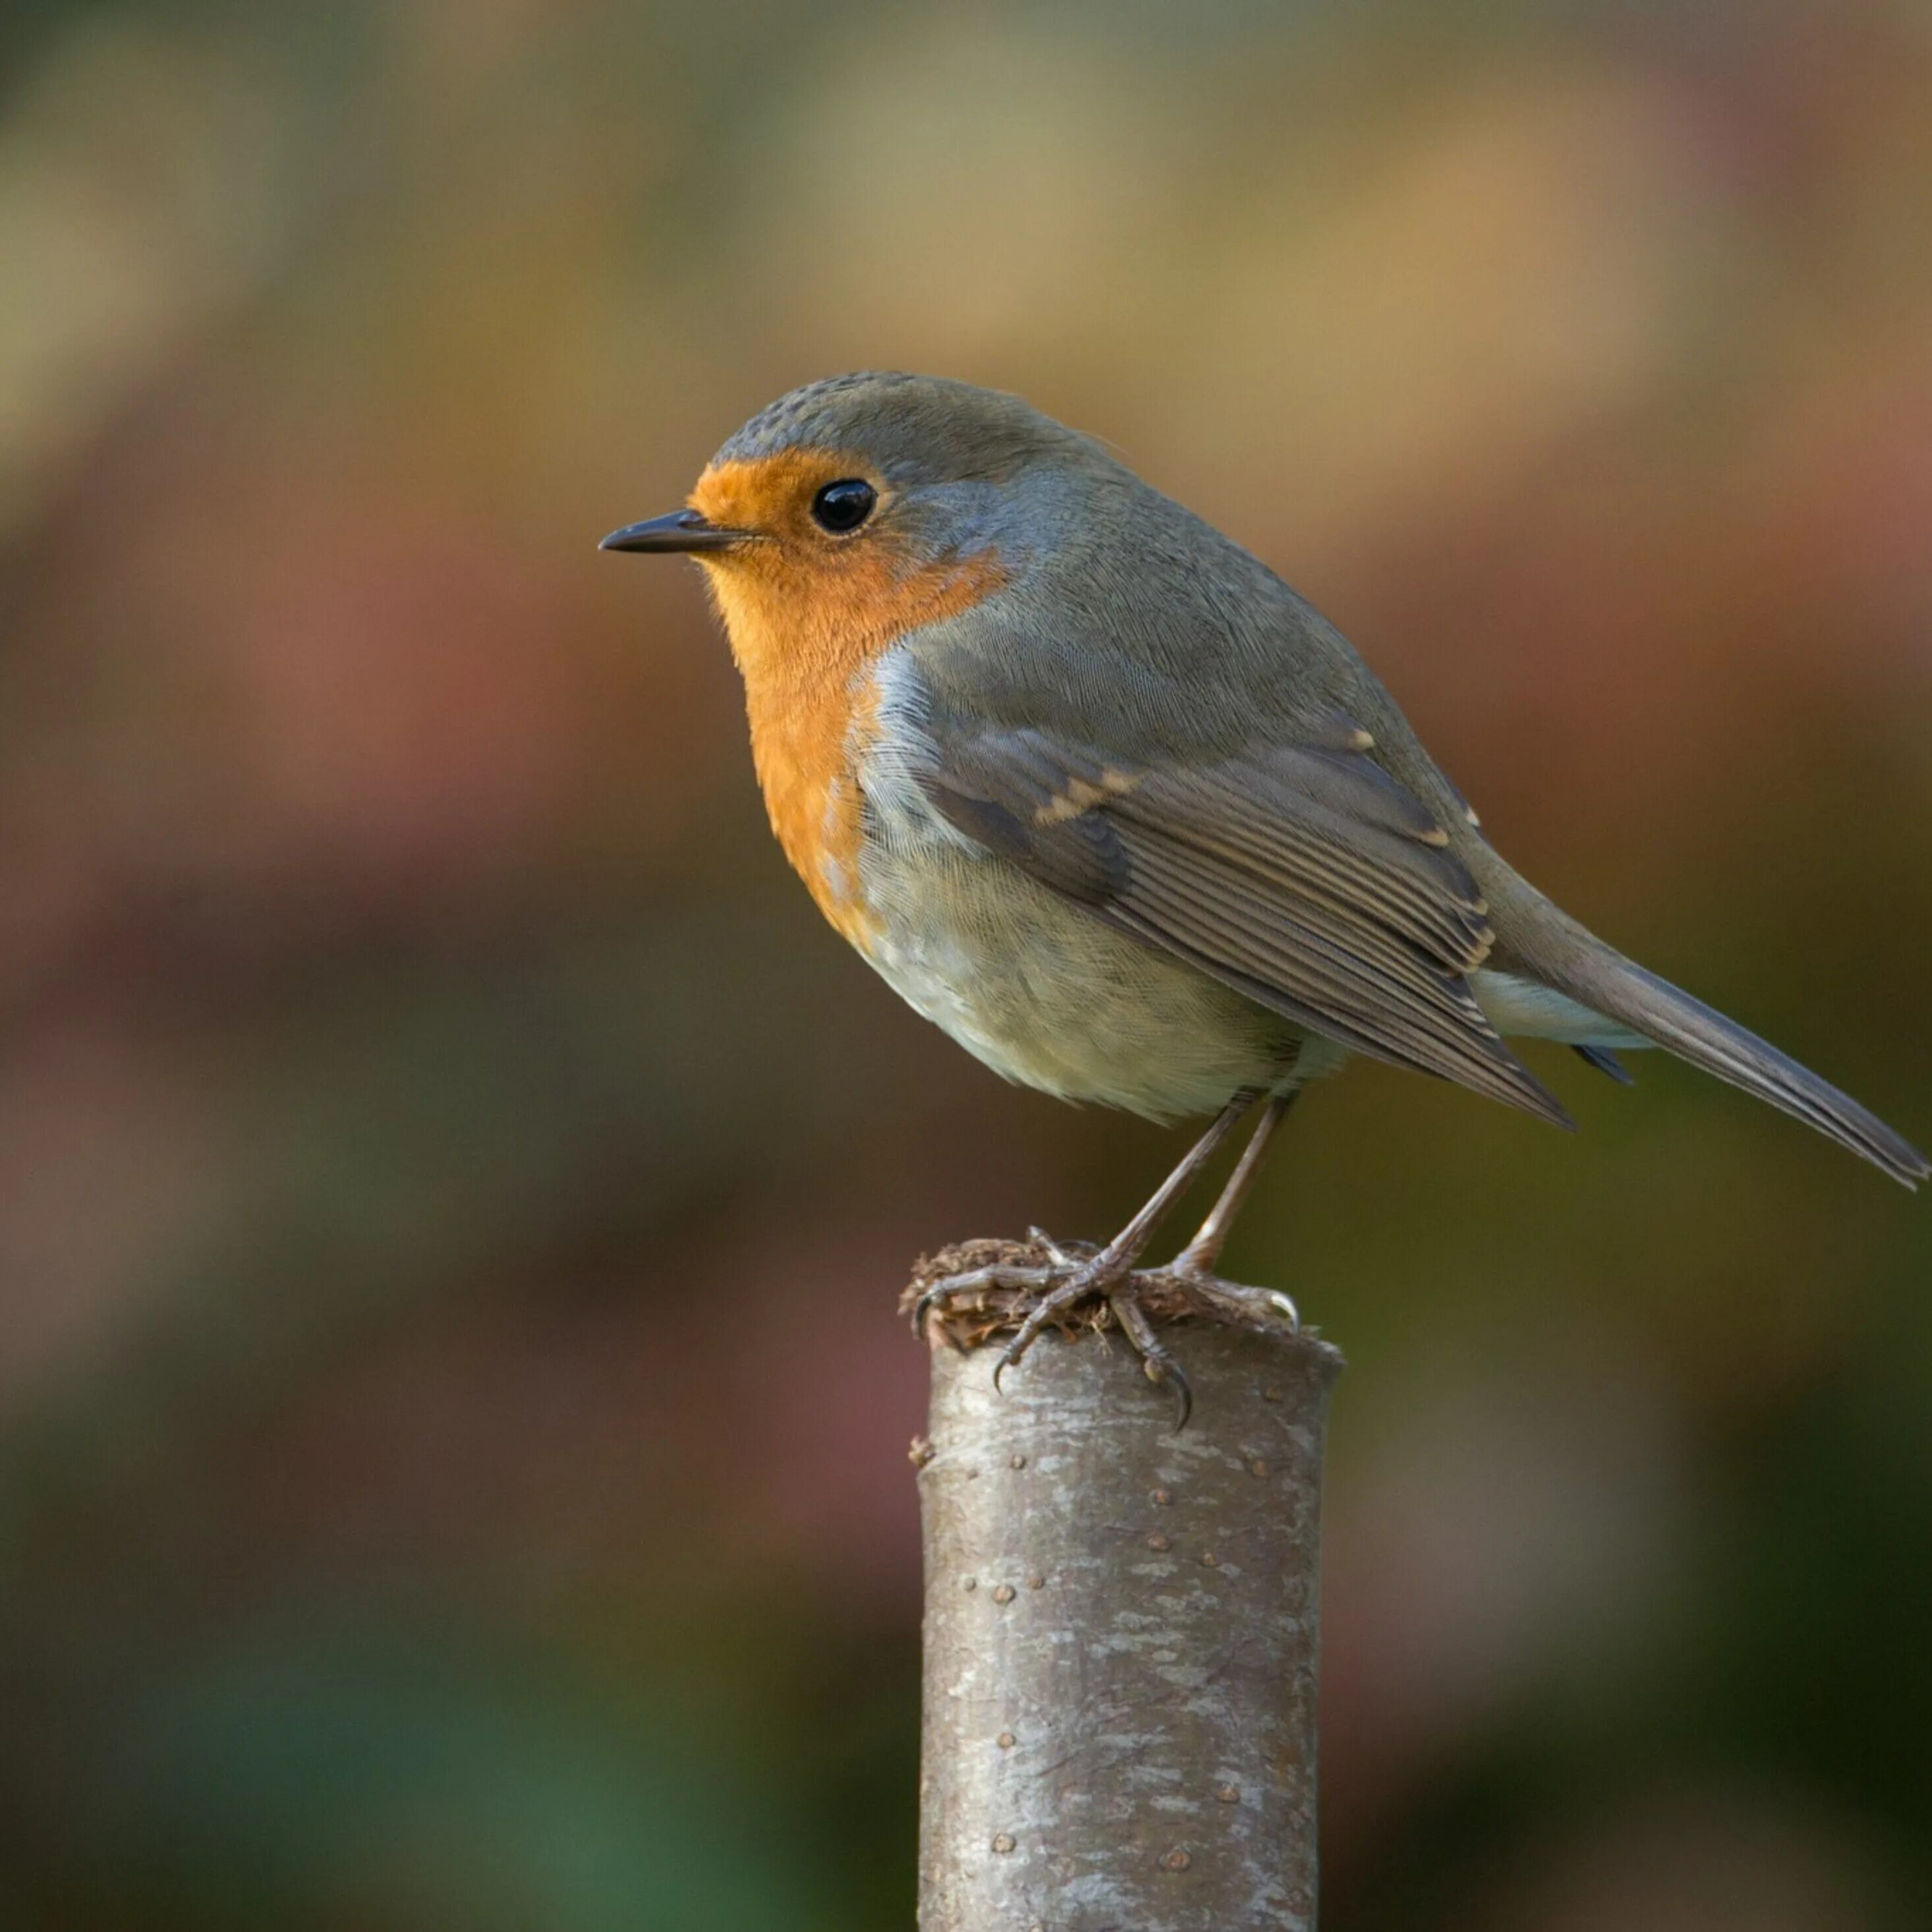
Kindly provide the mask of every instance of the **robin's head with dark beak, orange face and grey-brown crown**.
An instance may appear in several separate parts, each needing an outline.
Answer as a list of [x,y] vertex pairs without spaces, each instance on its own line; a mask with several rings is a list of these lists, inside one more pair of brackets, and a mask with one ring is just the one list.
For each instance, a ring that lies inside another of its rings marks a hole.
[[740,661],[819,632],[883,643],[976,603],[1041,531],[1055,477],[1111,460],[1018,396],[918,375],[840,375],[761,410],[684,510],[607,551],[705,566]]

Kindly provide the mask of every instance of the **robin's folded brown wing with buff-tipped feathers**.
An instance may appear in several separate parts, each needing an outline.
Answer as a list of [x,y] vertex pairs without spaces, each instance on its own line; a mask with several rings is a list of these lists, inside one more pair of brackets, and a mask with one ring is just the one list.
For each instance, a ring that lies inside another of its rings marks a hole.
[[1186,767],[980,730],[939,740],[925,788],[1039,883],[1260,1005],[1571,1124],[1470,993],[1492,945],[1476,881],[1345,721]]

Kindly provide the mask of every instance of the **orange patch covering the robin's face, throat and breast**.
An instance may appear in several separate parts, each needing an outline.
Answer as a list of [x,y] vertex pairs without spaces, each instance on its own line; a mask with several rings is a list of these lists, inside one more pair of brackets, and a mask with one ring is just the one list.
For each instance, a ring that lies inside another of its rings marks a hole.
[[[811,522],[811,498],[840,477],[879,491],[848,537]],[[896,638],[970,611],[1007,576],[991,553],[931,560],[893,531],[893,493],[838,450],[786,450],[713,464],[690,497],[713,524],[755,531],[699,554],[744,676],[752,759],[771,829],[827,920],[864,947],[856,761],[877,732],[869,667]]]

